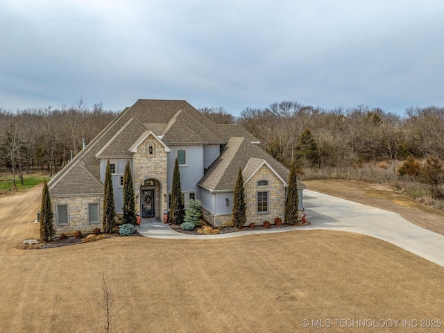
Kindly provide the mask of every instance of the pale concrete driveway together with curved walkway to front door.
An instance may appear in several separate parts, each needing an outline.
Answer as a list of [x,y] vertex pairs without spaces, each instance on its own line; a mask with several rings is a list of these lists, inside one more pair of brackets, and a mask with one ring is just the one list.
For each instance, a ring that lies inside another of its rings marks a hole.
[[[167,239],[221,239],[240,237],[246,234],[302,230],[336,230],[357,232],[388,241],[431,262],[444,266],[444,236],[418,227],[402,218],[400,214],[361,205],[349,200],[327,196],[314,191],[304,191],[304,206],[311,225],[300,228],[271,230],[246,230],[229,234],[182,234],[158,220],[143,219],[137,227],[139,234]],[[418,216],[419,218],[420,216]]]

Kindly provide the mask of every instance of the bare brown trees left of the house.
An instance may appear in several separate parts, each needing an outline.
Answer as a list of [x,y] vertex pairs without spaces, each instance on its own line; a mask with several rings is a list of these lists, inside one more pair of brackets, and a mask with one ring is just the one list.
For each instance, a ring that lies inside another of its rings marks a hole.
[[60,171],[83,146],[116,116],[103,103],[89,108],[83,101],[61,108],[28,108],[8,112],[0,108],[0,171],[18,176],[31,170]]

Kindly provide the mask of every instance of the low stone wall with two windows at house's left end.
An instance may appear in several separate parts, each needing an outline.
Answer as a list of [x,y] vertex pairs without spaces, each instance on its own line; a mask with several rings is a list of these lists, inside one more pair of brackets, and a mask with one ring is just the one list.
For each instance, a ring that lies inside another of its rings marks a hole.
[[[89,203],[99,203],[99,223],[88,223]],[[53,224],[56,228],[56,237],[59,237],[61,233],[74,234],[77,230],[88,233],[100,228],[103,231],[103,196],[53,196],[51,204],[54,212]],[[68,205],[69,223],[67,225],[58,225],[57,205]]]

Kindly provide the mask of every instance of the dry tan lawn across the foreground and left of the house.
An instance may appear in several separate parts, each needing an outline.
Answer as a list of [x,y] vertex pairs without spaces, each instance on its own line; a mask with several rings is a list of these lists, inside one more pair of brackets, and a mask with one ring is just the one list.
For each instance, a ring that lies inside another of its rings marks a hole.
[[444,268],[359,234],[115,237],[17,250],[38,235],[39,195],[0,199],[0,332],[103,332],[102,273],[115,307],[124,305],[112,332],[318,332],[302,319],[444,319]]

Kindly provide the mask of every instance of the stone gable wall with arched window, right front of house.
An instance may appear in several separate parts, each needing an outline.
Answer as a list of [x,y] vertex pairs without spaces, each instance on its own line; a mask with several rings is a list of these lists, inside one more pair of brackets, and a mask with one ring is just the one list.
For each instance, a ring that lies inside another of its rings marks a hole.
[[[268,180],[268,187],[257,187],[258,180]],[[282,181],[265,164],[255,175],[248,180],[245,189],[247,206],[247,223],[262,224],[264,221],[275,223],[275,217],[284,221],[285,214],[285,187]],[[268,213],[257,213],[257,192],[268,191]]]

